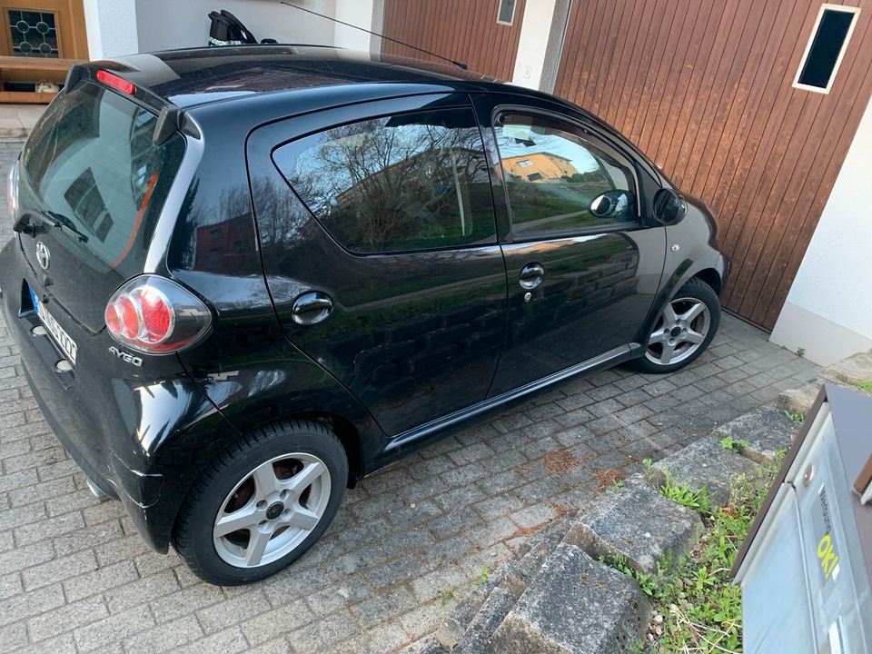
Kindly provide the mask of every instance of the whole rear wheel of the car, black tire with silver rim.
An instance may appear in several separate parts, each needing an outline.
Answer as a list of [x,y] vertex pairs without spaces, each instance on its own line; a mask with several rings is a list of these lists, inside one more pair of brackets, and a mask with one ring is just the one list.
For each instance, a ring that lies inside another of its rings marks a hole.
[[342,443],[321,423],[281,421],[253,431],[194,482],[173,546],[202,580],[223,586],[262,580],[321,538],[347,481]]

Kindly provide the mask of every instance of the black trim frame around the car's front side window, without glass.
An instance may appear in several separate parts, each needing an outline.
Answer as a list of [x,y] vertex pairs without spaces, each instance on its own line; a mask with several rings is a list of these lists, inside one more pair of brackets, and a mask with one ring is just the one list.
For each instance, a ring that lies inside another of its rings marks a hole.
[[[502,167],[502,157],[500,155],[500,142],[497,138],[496,132],[497,117],[500,114],[508,113],[538,115],[543,118],[549,118],[550,120],[568,124],[579,130],[584,135],[585,139],[592,141],[592,145],[605,150],[609,154],[617,154],[626,163],[629,163],[628,168],[633,176],[633,183],[636,186],[636,220],[624,221],[622,223],[604,223],[600,225],[593,225],[590,227],[583,227],[580,229],[555,230],[550,233],[532,233],[520,236],[517,235],[514,229],[515,224],[511,220],[511,202],[509,199],[509,187],[506,184],[504,174],[505,171]],[[491,111],[490,113],[490,132],[493,138],[493,145],[496,149],[496,153],[498,156],[500,156],[500,158],[495,163],[497,166],[499,166],[500,183],[502,184],[502,190],[505,195],[506,210],[509,214],[510,243],[534,243],[536,241],[551,240],[560,241],[579,236],[589,236],[590,234],[627,232],[632,229],[642,229],[646,226],[642,219],[642,204],[644,203],[644,196],[641,190],[641,183],[639,182],[638,163],[636,163],[636,160],[632,156],[630,156],[623,148],[620,148],[617,144],[612,143],[609,138],[605,138],[598,132],[591,130],[588,125],[583,124],[578,120],[574,120],[570,116],[556,114],[555,112],[549,111],[548,109],[542,109],[540,107],[532,107],[523,104],[500,104],[495,106],[493,108],[493,111]]]

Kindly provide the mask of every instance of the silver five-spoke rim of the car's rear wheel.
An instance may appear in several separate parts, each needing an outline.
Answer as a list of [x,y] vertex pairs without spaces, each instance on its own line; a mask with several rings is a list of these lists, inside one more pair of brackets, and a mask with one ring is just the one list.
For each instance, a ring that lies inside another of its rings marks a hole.
[[264,461],[224,498],[213,528],[215,551],[236,568],[281,559],[321,522],[330,490],[330,471],[312,454]]

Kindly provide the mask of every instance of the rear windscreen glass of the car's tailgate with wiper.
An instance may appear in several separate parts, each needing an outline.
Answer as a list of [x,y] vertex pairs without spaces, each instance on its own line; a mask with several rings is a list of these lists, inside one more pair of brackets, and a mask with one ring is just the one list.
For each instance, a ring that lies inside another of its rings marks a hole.
[[122,263],[137,237],[147,241],[182,160],[180,134],[152,143],[156,122],[121,95],[80,84],[51,105],[25,146],[30,203],[84,234],[77,254],[98,271]]

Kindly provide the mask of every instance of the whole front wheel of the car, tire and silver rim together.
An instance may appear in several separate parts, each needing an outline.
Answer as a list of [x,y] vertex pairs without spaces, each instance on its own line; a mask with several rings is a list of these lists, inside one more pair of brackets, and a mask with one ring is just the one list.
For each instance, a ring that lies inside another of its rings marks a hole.
[[706,351],[719,324],[718,294],[706,282],[691,278],[660,310],[636,369],[675,372],[684,368]]

